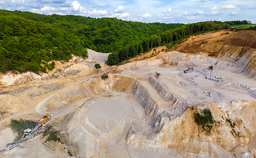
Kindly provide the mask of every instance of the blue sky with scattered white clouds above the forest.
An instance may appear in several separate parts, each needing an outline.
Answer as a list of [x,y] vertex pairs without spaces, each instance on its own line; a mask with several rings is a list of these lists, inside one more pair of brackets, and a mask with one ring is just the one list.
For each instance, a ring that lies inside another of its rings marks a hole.
[[256,0],[0,0],[0,9],[39,14],[116,17],[145,23],[250,20]]

